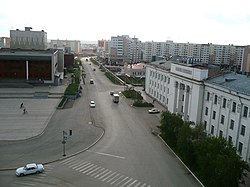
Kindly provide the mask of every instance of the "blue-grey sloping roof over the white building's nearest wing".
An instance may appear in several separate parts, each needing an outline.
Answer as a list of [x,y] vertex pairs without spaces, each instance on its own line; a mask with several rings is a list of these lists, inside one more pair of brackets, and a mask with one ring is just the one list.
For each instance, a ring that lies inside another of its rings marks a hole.
[[237,74],[234,72],[211,77],[205,83],[213,84],[228,90],[250,95],[250,76]]

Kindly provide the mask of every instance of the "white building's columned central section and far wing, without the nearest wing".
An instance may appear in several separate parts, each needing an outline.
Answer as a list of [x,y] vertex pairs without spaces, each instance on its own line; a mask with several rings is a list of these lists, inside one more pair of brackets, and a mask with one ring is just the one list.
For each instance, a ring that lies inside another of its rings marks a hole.
[[146,66],[145,91],[184,120],[200,122],[208,69],[193,64],[159,63]]

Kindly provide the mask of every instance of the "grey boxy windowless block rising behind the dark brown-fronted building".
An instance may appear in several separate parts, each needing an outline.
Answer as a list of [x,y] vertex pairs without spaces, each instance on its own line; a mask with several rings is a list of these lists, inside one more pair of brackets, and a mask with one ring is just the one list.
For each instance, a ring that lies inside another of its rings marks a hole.
[[47,49],[47,33],[42,31],[32,31],[31,27],[25,30],[10,30],[10,48],[27,50]]

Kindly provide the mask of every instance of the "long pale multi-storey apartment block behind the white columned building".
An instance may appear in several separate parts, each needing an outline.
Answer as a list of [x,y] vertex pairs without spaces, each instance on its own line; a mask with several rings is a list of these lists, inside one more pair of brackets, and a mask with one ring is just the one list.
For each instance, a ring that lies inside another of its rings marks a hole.
[[166,42],[145,42],[143,45],[143,60],[155,61],[155,56],[181,56],[184,58],[199,58],[203,63],[217,64],[224,68],[240,70],[243,63],[244,46],[193,44]]

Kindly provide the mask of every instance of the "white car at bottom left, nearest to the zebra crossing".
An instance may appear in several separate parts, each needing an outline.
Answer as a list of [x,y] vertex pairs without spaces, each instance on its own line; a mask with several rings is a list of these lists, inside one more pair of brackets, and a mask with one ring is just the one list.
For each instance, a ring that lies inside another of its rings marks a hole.
[[34,173],[42,173],[44,171],[44,167],[42,164],[27,164],[24,167],[20,167],[16,169],[16,176],[24,176]]

